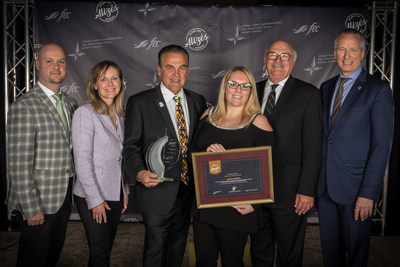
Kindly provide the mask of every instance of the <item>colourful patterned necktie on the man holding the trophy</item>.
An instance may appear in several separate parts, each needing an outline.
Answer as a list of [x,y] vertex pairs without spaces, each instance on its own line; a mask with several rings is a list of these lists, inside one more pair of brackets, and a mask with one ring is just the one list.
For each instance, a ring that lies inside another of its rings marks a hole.
[[183,109],[181,105],[181,98],[179,96],[174,96],[174,100],[175,100],[176,121],[178,122],[179,144],[182,149],[181,181],[187,185],[189,183],[189,175],[188,175],[189,171],[187,162],[188,134],[186,130],[185,115],[183,114]]

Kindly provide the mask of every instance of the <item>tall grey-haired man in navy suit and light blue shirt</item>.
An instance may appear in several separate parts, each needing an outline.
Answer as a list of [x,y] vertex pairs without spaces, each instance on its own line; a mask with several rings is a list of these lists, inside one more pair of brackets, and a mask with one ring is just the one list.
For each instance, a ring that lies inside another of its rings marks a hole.
[[317,203],[325,266],[367,266],[372,210],[391,151],[392,91],[361,67],[364,53],[361,33],[340,32],[334,47],[340,74],[321,85]]

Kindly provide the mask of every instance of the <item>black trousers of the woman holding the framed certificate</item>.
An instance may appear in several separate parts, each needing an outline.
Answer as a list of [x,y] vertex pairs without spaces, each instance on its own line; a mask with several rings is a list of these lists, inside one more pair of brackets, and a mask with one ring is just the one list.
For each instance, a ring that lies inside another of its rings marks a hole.
[[215,227],[193,218],[196,267],[244,267],[243,254],[249,233]]

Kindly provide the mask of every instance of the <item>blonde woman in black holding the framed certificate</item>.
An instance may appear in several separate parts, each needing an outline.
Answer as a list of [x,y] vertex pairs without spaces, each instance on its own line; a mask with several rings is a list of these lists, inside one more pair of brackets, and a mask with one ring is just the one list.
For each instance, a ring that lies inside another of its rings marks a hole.
[[[272,144],[272,128],[260,114],[253,75],[242,66],[231,68],[221,81],[217,105],[207,109],[198,124],[191,151],[222,152]],[[244,266],[244,247],[249,233],[257,231],[257,215],[252,205],[196,209],[196,266],[217,266],[219,253],[222,266]]]

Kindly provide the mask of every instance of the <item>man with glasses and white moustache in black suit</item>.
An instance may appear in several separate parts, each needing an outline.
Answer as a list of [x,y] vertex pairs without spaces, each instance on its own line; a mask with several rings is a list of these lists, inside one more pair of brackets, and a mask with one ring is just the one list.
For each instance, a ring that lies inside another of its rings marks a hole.
[[264,114],[274,130],[275,201],[264,204],[263,229],[251,235],[253,266],[301,266],[306,212],[314,205],[321,159],[321,98],[316,87],[290,73],[296,51],[275,41],[264,54],[268,80],[257,84]]

